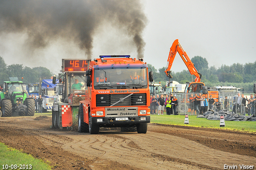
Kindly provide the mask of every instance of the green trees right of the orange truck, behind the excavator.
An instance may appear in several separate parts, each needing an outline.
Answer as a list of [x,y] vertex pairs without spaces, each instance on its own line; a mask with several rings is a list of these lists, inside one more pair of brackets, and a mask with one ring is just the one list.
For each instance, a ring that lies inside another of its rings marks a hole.
[[[194,56],[191,58],[195,68],[202,74],[201,82],[206,86],[235,86],[242,87],[244,91],[253,91],[253,83],[256,83],[256,61],[254,63],[234,63],[230,66],[223,65],[220,68],[215,66],[208,67],[208,61],[201,56]],[[166,67],[159,68],[158,70],[152,65],[148,64],[153,71],[154,81],[162,82],[165,86],[169,78],[165,74]],[[177,81],[181,84],[192,82],[195,76],[191,76],[188,70],[181,72],[172,72],[170,80]]]

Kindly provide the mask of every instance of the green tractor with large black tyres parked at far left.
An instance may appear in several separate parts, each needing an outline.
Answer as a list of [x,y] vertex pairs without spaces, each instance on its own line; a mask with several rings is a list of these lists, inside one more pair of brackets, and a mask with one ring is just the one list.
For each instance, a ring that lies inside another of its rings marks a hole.
[[34,116],[35,102],[29,97],[22,81],[18,78],[10,78],[1,85],[0,92],[0,117],[10,116]]

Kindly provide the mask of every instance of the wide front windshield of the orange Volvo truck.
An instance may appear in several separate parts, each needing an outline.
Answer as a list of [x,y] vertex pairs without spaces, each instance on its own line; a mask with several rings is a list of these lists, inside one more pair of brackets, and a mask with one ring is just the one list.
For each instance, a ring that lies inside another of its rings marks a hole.
[[146,88],[146,68],[111,68],[94,70],[94,87],[99,86],[140,86]]

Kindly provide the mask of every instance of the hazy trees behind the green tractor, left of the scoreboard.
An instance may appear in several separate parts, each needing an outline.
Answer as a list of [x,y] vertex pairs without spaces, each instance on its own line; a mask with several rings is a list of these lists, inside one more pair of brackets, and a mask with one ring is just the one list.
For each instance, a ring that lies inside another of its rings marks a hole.
[[9,81],[9,77],[18,77],[24,83],[39,83],[41,79],[50,79],[53,73],[45,67],[30,68],[22,64],[12,64],[7,66],[2,56],[0,56],[0,84]]

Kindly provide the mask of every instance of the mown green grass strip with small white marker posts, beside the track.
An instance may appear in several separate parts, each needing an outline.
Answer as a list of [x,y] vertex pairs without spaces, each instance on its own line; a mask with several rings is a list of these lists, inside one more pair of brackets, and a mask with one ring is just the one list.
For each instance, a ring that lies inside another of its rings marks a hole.
[[185,115],[151,115],[151,123],[173,124],[183,126],[194,126],[204,128],[219,128],[228,130],[239,130],[243,132],[256,133],[256,122],[251,121],[225,121],[226,127],[220,127],[220,120],[208,120],[206,118],[196,118],[196,115],[189,115],[189,124],[184,124]]

